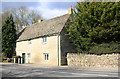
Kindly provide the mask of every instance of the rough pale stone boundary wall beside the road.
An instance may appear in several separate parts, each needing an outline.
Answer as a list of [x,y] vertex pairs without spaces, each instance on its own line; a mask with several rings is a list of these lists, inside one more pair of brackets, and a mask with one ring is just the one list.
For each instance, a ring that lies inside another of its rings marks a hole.
[[118,67],[119,57],[120,54],[118,53],[103,55],[68,53],[67,62],[68,66]]

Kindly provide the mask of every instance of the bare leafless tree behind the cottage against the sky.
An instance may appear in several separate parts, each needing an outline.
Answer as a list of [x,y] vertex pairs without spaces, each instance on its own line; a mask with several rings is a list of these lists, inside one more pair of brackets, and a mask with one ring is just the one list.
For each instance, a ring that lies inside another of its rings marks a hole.
[[23,26],[29,26],[42,19],[40,13],[36,10],[29,9],[28,7],[12,8],[4,10],[2,13],[2,24],[4,24],[7,17],[13,15],[13,20],[18,32],[20,32]]

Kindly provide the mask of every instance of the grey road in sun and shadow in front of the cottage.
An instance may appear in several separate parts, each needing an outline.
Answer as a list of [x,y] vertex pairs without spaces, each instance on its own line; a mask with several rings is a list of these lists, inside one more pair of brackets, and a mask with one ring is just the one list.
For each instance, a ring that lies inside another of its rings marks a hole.
[[2,64],[3,77],[118,77],[117,71],[94,71],[69,67],[32,67]]

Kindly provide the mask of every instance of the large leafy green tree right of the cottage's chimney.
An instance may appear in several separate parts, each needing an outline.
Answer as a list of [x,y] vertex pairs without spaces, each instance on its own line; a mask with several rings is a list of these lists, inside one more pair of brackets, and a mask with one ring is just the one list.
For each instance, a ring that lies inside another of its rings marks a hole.
[[79,52],[95,44],[119,42],[120,2],[78,2],[67,26]]

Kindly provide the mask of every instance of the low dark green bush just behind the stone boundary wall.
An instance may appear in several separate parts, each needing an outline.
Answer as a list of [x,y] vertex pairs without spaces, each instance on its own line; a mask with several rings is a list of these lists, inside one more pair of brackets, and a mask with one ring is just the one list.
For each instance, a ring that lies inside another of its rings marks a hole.
[[120,53],[120,44],[119,43],[97,44],[90,48],[89,53],[93,54]]

